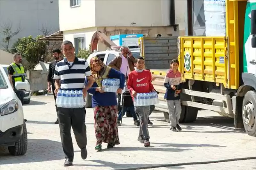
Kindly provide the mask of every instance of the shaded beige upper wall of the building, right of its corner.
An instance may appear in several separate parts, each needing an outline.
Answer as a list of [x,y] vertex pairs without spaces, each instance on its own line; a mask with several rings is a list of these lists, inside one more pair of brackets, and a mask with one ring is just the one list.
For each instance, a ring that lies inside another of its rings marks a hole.
[[168,26],[169,0],[105,0],[104,3],[95,1],[95,20],[97,27]]

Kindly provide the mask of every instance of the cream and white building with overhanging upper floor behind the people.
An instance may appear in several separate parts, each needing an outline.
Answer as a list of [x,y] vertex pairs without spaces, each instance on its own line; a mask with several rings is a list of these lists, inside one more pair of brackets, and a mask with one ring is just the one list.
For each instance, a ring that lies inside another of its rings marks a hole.
[[[180,35],[180,29],[171,26],[170,1],[105,0],[103,3],[100,0],[59,0],[60,31],[63,31],[64,40],[74,43],[76,51],[89,48],[96,31],[107,36],[132,33],[151,37],[157,34],[177,36]],[[186,8],[181,8],[180,4],[183,3],[175,4],[175,9],[180,12],[175,19],[181,23],[181,32],[185,33],[185,14],[182,10]],[[98,44],[99,51],[105,48]]]

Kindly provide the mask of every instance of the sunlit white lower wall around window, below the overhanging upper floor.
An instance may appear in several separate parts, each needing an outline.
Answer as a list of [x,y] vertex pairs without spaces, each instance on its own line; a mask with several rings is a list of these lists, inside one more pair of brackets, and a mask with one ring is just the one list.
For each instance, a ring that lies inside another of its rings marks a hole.
[[78,30],[69,30],[69,31],[63,31],[63,40],[68,40],[75,45],[74,38],[76,35],[85,35],[85,47],[89,48],[89,45],[91,44],[92,35],[97,31],[96,27],[92,28],[84,28],[84,29],[78,29]]

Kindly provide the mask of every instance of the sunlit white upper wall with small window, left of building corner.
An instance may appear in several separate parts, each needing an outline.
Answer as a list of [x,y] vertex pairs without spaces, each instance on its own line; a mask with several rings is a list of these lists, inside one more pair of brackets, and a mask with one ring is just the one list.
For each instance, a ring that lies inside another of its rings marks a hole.
[[95,26],[94,0],[81,0],[76,7],[70,7],[70,0],[59,0],[59,9],[61,31]]

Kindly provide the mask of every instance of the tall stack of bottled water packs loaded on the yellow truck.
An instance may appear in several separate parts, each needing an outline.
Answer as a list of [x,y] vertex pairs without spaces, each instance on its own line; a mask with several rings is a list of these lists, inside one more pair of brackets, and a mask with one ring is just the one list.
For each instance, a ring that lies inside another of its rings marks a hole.
[[226,36],[226,0],[204,0],[205,35]]

